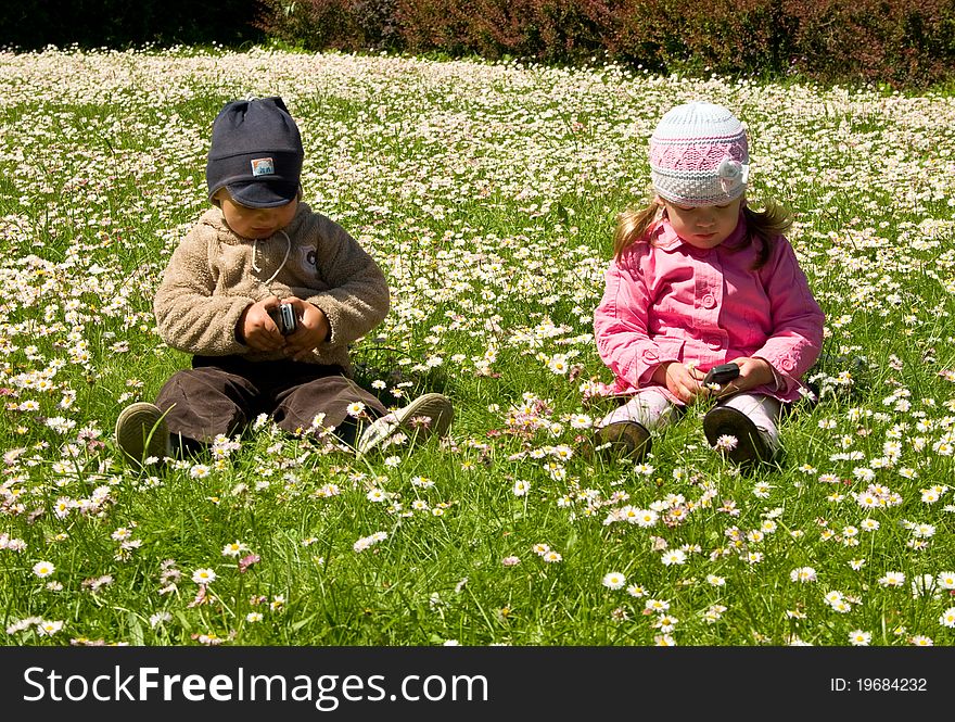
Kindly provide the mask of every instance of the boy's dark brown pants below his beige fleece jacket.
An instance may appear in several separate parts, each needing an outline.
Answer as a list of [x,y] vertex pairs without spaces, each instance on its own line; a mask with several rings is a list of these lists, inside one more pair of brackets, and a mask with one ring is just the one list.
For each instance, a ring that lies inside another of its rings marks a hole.
[[340,366],[194,356],[191,369],[166,381],[156,406],[166,413],[169,433],[184,438],[186,446],[241,433],[259,414],[293,433],[307,430],[316,415],[324,414],[322,426],[334,427],[342,441],[354,444],[357,422],[347,407],[355,402],[365,404],[372,419],[387,414],[378,397],[344,376]]

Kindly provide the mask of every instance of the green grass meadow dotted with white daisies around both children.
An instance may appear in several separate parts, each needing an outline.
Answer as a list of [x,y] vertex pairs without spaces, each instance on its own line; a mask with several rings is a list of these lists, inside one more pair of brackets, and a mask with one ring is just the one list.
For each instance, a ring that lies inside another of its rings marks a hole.
[[[0,643],[955,643],[953,98],[264,49],[0,52]],[[390,281],[360,381],[446,393],[445,443],[356,459],[259,419],[120,460],[119,410],[189,363],[152,296],[249,94]],[[794,211],[827,315],[818,400],[753,474],[704,403],[644,464],[580,453],[614,216],[692,99],[749,126],[750,201]]]

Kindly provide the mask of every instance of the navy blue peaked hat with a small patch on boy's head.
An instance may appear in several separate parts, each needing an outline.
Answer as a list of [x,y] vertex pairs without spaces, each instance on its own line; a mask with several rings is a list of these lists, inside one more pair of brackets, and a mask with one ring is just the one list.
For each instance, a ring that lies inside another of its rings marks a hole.
[[213,122],[205,179],[209,201],[220,188],[251,208],[270,208],[298,194],[302,137],[281,98],[235,100]]

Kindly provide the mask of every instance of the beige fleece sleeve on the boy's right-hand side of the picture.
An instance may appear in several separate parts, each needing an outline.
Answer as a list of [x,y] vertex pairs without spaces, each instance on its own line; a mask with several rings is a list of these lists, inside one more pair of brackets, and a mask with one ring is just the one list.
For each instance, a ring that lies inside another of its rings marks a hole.
[[328,318],[331,330],[323,345],[347,345],[384,320],[391,306],[387,282],[374,259],[344,228],[328,218],[316,223],[318,273],[329,288],[303,297]]

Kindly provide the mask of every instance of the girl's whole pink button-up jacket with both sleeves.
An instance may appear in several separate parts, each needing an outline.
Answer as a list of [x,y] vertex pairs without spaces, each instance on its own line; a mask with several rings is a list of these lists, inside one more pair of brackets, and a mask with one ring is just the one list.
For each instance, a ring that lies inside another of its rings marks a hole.
[[[759,356],[776,370],[778,385],[763,393],[784,402],[800,397],[800,377],[819,355],[824,315],[784,237],[751,270],[759,240],[734,252],[746,220],[715,249],[685,243],[663,218],[612,261],[603,299],[594,313],[600,357],[614,373],[610,393],[637,393],[664,362],[696,362],[700,370],[739,356]],[[677,402],[665,388],[664,393]]]

